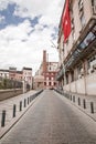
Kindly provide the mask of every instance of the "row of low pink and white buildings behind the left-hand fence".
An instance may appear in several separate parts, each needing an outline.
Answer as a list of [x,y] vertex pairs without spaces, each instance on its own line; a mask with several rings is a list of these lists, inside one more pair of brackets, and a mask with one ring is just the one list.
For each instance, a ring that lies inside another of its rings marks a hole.
[[7,83],[7,88],[22,88],[24,85],[26,90],[32,89],[32,69],[23,68],[22,71],[18,71],[17,68],[9,68],[9,70],[0,70],[0,83],[3,85]]

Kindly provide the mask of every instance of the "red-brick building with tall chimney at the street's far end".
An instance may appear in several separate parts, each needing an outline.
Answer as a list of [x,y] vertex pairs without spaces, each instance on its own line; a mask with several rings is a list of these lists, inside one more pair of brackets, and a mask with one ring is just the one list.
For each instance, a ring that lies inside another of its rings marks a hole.
[[34,76],[35,89],[53,89],[57,86],[57,62],[49,62],[46,51],[43,51],[43,61]]

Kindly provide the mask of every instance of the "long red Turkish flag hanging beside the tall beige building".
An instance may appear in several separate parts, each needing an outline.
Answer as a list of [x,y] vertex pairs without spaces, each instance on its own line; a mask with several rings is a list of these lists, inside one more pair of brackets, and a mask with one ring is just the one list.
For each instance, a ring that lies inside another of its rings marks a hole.
[[65,2],[65,9],[62,17],[62,27],[63,27],[63,33],[64,33],[64,42],[66,42],[71,33],[70,0],[66,0]]

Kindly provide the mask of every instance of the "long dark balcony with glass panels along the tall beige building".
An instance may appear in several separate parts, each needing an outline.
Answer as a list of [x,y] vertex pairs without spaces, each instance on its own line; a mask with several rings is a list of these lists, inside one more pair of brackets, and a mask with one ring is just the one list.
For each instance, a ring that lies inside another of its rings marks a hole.
[[[92,23],[89,23],[92,24]],[[84,38],[81,37],[76,43],[75,49],[65,62],[65,69],[70,69],[75,65],[81,59],[92,53],[96,48],[96,23],[92,25],[90,30],[87,31]]]

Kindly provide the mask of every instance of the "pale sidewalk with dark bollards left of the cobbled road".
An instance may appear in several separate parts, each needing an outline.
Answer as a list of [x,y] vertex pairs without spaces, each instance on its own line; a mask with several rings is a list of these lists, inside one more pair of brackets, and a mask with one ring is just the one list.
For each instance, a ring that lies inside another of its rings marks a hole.
[[[18,96],[0,102],[0,138],[28,111],[28,109],[36,100],[35,97],[39,95],[40,92],[30,91],[28,93],[20,94]],[[3,111],[6,112],[4,116],[2,115]]]

